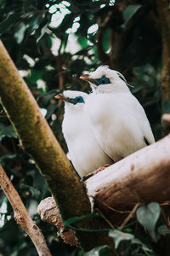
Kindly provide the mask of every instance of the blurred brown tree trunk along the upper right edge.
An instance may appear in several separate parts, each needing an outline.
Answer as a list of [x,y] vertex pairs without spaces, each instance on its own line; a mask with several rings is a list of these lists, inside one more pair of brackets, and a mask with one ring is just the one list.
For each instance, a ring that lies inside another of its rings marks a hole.
[[170,8],[168,0],[157,0],[156,3],[161,21],[161,102],[163,104],[170,97]]

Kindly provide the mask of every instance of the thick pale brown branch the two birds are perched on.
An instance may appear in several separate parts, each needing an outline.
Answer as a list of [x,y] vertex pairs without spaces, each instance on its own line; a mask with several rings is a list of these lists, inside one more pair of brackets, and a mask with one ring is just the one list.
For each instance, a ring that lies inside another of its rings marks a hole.
[[170,135],[89,177],[88,195],[113,224],[138,202],[169,201],[169,155]]

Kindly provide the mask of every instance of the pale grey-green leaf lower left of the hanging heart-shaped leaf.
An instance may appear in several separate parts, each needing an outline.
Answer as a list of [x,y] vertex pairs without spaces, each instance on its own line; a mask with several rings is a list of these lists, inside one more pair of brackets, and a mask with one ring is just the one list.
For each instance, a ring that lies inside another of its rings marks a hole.
[[134,236],[132,234],[124,233],[120,230],[111,230],[111,231],[109,231],[109,236],[114,239],[116,249],[119,247],[119,244],[120,244],[121,241],[123,241],[123,240],[132,241],[134,239]]

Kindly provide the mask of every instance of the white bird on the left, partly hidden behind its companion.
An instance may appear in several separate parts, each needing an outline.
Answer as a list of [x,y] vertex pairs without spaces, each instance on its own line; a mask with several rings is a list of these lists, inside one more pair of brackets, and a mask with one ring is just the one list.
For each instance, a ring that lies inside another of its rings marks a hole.
[[83,113],[88,94],[77,90],[65,90],[55,98],[65,102],[62,132],[70,160],[79,176],[94,172],[100,166],[112,164],[111,158],[97,143],[88,117]]

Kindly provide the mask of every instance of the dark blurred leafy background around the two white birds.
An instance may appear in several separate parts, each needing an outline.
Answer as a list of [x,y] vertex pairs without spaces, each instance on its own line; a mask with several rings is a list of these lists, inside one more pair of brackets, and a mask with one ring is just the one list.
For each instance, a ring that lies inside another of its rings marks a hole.
[[[88,92],[88,84],[78,77],[101,64],[124,74],[133,85],[133,94],[144,106],[156,140],[162,137],[161,30],[155,1],[2,0],[0,34],[65,152],[61,133],[63,106],[54,100],[54,95],[68,89]],[[167,112],[169,103],[163,108]],[[82,255],[81,250],[63,244],[54,226],[42,223],[37,215],[38,203],[50,195],[48,187],[30,156],[20,147],[3,108],[0,162],[41,228],[53,255]],[[157,230],[160,207],[151,205],[149,209],[149,213],[148,208],[142,209],[143,214],[149,214],[146,223],[139,212],[137,220],[123,232],[111,231],[122,255],[162,255],[160,236],[168,234],[168,229],[161,224],[161,231]],[[15,223],[2,190],[0,214],[0,255],[37,255],[29,237]],[[150,214],[155,220],[151,228]],[[135,237],[139,240],[134,240]],[[94,250],[105,255],[107,248]],[[94,251],[87,255],[94,255]]]

